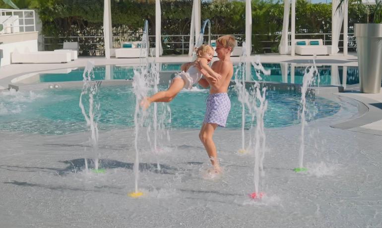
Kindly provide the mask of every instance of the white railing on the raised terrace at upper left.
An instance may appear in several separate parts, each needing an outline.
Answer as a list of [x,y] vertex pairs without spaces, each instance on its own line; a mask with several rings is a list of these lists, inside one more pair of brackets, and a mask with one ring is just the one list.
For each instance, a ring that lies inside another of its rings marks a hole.
[[36,31],[35,11],[24,9],[0,9],[0,24],[3,33]]

